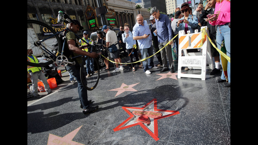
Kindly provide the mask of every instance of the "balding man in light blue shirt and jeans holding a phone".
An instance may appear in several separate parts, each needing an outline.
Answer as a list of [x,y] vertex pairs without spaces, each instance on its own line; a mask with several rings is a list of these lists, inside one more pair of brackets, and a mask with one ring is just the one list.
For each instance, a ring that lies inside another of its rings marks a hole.
[[[142,59],[153,55],[153,46],[152,46],[152,36],[150,28],[147,24],[147,21],[143,20],[142,14],[138,14],[136,17],[137,23],[133,27],[133,39],[138,41],[140,50],[142,53]],[[142,62],[144,67],[144,72],[146,74],[151,74],[149,69],[156,69],[158,67],[154,66],[153,57]]]

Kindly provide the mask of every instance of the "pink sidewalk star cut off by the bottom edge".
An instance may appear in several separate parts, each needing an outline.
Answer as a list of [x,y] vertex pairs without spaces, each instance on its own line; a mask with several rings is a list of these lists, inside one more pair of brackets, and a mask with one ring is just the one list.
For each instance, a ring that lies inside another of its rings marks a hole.
[[[72,141],[72,139],[75,137],[75,135],[77,134],[77,132],[81,129],[82,126],[78,127],[77,129],[75,129],[74,131],[66,134],[64,137],[59,137],[56,136],[54,134],[49,133],[48,136],[48,141],[47,144],[48,145],[54,145],[54,144],[71,144],[71,145],[80,145],[81,143]],[[83,145],[83,144],[81,144]]]

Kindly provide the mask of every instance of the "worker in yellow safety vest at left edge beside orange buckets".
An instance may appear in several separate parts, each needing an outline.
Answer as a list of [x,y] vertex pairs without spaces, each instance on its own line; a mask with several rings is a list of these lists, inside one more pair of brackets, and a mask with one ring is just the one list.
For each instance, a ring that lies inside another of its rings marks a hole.
[[[39,60],[37,59],[36,56],[32,55],[33,51],[31,48],[28,49],[27,51],[27,61],[32,62],[32,63],[39,63]],[[45,75],[43,74],[41,67],[32,67],[32,66],[28,66],[27,65],[27,77],[31,79],[31,83],[32,83],[32,94],[35,98],[40,98],[42,97],[42,95],[38,94],[38,79],[44,84],[44,88],[47,92],[47,94],[52,93],[53,91],[51,91],[47,79],[45,77]]]

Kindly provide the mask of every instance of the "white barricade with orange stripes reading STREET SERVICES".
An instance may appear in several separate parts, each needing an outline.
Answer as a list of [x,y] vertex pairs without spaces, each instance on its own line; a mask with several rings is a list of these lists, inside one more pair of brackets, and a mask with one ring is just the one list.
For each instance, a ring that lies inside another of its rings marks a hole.
[[[202,33],[202,29],[205,29],[209,35],[208,27],[201,27],[201,32],[195,30],[195,33],[185,34],[185,31],[179,31],[179,46],[178,46],[178,78],[201,78],[205,80],[206,69],[213,69],[213,62],[211,56],[211,44],[205,33]],[[189,49],[201,48],[202,52],[190,52]],[[182,56],[184,51],[185,56]],[[207,66],[208,65],[208,66]],[[182,67],[188,67],[190,69],[201,69],[201,74],[187,74],[181,73]]]

